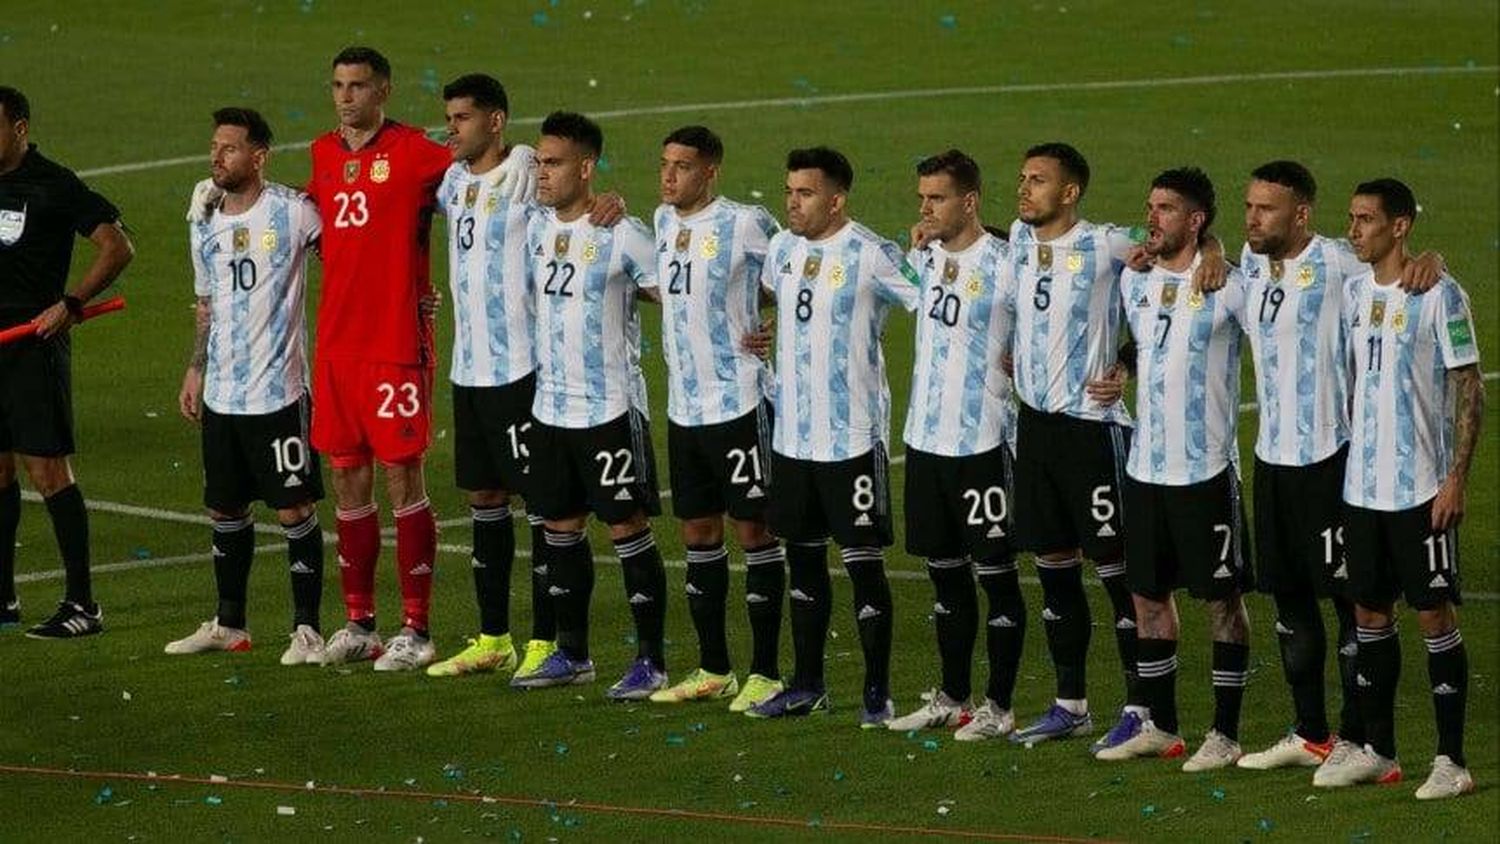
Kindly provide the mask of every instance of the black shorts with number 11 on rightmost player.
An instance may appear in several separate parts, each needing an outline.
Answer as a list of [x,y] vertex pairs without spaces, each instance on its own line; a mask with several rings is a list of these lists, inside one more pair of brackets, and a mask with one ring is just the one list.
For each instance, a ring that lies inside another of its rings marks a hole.
[[1388,513],[1344,505],[1348,592],[1370,609],[1460,604],[1458,531],[1432,531],[1432,502]]

